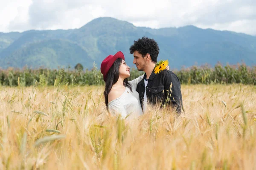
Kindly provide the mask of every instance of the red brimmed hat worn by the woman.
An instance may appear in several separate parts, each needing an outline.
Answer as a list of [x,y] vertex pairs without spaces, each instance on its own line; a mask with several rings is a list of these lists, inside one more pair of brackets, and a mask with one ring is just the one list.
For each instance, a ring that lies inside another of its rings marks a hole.
[[125,60],[125,56],[121,51],[118,51],[115,55],[109,55],[102,61],[102,64],[100,66],[100,71],[103,74],[103,78],[105,82],[108,78],[109,69],[118,58]]

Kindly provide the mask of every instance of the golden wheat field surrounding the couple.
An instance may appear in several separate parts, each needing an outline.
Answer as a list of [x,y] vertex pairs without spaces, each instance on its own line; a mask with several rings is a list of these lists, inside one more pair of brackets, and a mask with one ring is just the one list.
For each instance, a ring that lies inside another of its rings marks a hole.
[[0,87],[0,169],[256,169],[256,86],[181,90],[181,116],[125,121],[106,111],[103,86]]

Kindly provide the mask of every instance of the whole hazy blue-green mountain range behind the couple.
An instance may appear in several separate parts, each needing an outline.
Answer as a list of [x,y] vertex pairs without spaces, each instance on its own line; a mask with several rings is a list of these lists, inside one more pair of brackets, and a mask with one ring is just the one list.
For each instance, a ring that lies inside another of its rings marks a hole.
[[84,68],[91,68],[95,62],[99,68],[105,57],[117,51],[122,51],[128,65],[134,67],[129,48],[143,36],[157,41],[158,59],[169,59],[172,69],[195,63],[243,61],[256,65],[255,36],[195,26],[152,29],[100,17],[79,29],[0,33],[0,67],[73,68],[80,62]]

